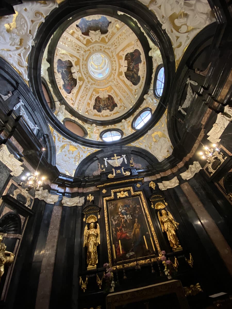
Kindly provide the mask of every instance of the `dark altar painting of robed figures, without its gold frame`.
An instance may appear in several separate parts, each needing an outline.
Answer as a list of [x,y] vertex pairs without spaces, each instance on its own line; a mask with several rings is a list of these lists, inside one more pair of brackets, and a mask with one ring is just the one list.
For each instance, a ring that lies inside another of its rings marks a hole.
[[[135,261],[135,258],[138,260],[141,260],[143,257],[147,258],[148,252],[144,236],[150,254],[155,254],[151,237],[154,246],[156,246],[155,241],[157,241],[157,239],[156,236],[154,237],[156,240],[153,238],[152,234],[155,234],[155,232],[150,217],[148,220],[149,214],[147,206],[141,201],[141,196],[108,201],[107,209],[109,212],[109,239],[111,248],[115,248],[116,256],[115,259],[113,251],[111,254],[112,261],[116,263],[121,262],[122,256],[125,263],[127,261]],[[151,229],[149,229],[149,226]],[[151,233],[151,230],[153,230],[153,233]],[[119,240],[121,242],[122,254],[120,253]],[[159,251],[159,245],[157,247]],[[158,251],[156,249],[157,256]]]

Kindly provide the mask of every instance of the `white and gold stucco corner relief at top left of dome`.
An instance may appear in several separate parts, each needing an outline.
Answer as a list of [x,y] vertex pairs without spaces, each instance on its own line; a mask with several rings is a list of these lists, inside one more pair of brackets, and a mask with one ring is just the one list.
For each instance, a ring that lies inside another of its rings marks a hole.
[[[34,45],[34,37],[45,16],[58,7],[57,2],[25,2],[15,5],[16,14],[0,19],[0,56],[28,81],[27,58]],[[8,26],[10,24],[10,27]],[[8,27],[7,27],[7,26]]]

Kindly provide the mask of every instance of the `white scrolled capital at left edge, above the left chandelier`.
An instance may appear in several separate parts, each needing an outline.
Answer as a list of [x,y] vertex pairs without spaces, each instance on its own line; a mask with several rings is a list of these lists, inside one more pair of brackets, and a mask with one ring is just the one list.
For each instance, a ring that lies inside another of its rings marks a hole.
[[24,170],[23,163],[15,159],[5,144],[0,145],[0,160],[12,171],[12,176],[19,176]]

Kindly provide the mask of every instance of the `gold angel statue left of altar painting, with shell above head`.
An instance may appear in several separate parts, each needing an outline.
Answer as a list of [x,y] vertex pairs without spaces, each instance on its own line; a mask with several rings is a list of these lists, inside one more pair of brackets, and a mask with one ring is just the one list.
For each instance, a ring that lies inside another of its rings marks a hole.
[[97,221],[97,217],[94,215],[88,216],[86,222],[90,223],[89,229],[86,224],[84,228],[84,247],[88,247],[87,250],[87,270],[97,268],[97,246],[100,244],[100,228],[97,223],[97,228],[95,229],[94,222]]

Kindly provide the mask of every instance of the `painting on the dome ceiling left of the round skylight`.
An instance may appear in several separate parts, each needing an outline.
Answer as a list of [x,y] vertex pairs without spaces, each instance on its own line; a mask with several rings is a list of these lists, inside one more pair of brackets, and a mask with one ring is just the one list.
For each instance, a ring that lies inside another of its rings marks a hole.
[[73,88],[77,84],[76,78],[73,77],[71,68],[73,67],[70,60],[62,61],[61,59],[57,60],[57,72],[61,74],[63,81],[63,89],[68,94],[71,93]]

